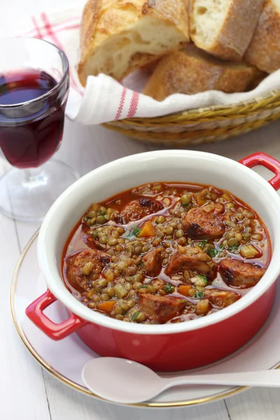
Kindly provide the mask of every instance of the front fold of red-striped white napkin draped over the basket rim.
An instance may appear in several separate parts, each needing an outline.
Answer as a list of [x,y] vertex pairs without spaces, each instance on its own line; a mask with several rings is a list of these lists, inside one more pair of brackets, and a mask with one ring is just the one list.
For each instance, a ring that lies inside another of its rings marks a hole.
[[87,78],[83,97],[76,97],[75,104],[69,100],[69,118],[91,125],[132,117],[158,117],[170,113],[197,109],[204,106],[237,104],[280,88],[280,70],[269,75],[251,92],[227,94],[217,90],[193,95],[172,94],[162,102],[137,93],[116,82],[113,78],[99,74]]

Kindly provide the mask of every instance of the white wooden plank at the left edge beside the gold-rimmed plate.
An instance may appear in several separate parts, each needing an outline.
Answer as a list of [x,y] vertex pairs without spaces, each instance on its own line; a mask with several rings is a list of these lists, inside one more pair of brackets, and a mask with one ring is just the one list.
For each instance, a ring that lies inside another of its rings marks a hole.
[[20,255],[15,224],[0,215],[1,419],[49,420],[41,367],[31,358],[10,316],[10,281]]

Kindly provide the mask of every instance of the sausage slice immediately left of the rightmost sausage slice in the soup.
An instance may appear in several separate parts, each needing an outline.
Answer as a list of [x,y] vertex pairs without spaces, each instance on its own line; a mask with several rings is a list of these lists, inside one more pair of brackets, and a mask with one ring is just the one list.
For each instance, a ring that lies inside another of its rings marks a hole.
[[216,264],[212,260],[210,263],[200,261],[197,253],[182,253],[181,251],[176,251],[172,255],[165,273],[167,275],[178,274],[183,273],[186,269],[209,277],[213,277],[216,274]]

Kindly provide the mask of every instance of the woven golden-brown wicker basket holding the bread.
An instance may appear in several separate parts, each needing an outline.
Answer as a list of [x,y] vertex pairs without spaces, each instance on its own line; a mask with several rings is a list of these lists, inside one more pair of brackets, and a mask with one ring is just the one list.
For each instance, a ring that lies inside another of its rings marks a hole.
[[277,118],[280,118],[280,90],[239,104],[193,109],[158,118],[131,118],[104,126],[146,143],[180,147],[228,139]]

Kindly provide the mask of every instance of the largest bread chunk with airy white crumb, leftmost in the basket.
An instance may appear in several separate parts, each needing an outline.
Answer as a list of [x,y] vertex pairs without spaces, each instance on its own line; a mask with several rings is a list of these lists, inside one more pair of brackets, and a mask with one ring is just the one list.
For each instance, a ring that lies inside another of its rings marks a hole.
[[88,0],[80,34],[80,82],[117,80],[189,41],[186,0]]

